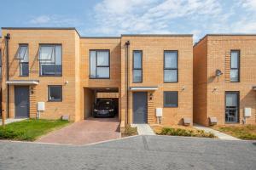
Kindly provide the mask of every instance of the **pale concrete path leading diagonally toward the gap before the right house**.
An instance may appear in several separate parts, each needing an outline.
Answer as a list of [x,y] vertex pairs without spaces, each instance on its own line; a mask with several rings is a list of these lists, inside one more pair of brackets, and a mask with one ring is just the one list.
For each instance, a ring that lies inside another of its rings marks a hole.
[[228,134],[225,134],[225,133],[221,133],[217,130],[214,130],[210,127],[203,127],[201,125],[198,125],[198,124],[195,124],[194,127],[198,130],[204,130],[205,132],[207,133],[213,133],[215,136],[218,137],[218,139],[224,139],[224,140],[241,140],[241,139],[237,139],[233,136],[230,136]]

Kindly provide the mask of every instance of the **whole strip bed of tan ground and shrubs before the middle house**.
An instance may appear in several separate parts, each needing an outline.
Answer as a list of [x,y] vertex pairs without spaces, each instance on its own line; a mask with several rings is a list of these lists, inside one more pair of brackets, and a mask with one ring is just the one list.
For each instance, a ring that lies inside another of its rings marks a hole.
[[202,130],[197,130],[194,127],[185,126],[161,126],[152,125],[154,133],[159,135],[170,135],[170,136],[192,136],[192,137],[204,137],[204,138],[216,138],[213,133],[206,133]]

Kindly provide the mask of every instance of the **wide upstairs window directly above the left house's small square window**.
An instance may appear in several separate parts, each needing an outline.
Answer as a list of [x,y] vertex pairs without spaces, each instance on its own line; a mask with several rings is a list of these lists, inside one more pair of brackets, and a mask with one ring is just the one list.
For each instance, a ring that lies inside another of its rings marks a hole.
[[62,47],[61,45],[40,45],[40,76],[62,75]]

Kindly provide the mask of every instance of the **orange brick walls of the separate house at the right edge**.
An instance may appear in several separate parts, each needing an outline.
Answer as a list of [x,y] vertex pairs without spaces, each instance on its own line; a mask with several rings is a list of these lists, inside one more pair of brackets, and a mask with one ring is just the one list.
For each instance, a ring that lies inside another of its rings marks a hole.
[[[207,35],[194,47],[194,122],[209,125],[209,117],[225,122],[225,92],[239,92],[238,123],[256,122],[256,36]],[[230,82],[230,52],[240,51],[240,81]],[[223,75],[216,77],[219,69]],[[244,108],[252,116],[244,119]],[[236,123],[235,123],[236,124]]]

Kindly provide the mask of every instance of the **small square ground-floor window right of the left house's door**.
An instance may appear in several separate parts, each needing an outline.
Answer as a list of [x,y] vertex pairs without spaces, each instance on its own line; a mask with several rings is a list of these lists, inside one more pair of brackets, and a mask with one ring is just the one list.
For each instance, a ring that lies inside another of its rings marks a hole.
[[62,86],[61,85],[48,86],[48,100],[49,101],[62,101]]

